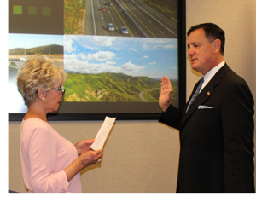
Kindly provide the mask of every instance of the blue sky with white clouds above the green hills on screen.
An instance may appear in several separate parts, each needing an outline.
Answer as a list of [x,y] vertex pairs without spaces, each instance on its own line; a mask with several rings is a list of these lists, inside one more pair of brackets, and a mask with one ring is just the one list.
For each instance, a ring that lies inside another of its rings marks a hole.
[[81,73],[177,79],[177,39],[64,35],[64,66]]

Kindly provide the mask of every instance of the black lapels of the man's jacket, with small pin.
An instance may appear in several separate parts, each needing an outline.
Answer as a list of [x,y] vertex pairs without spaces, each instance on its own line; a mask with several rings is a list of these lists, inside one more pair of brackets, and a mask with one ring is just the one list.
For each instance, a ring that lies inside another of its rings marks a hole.
[[197,88],[197,85],[199,82],[195,84],[195,87],[193,89],[192,94],[189,97],[189,101],[186,104],[186,107],[183,111],[183,119],[182,124],[195,112],[195,110],[198,108],[199,105],[207,101],[213,94],[215,86],[218,85],[221,81],[221,79],[224,77],[225,72],[229,71],[230,67],[226,64],[213,76],[213,78],[210,80],[210,82],[205,86],[204,89],[201,90],[201,93],[196,97],[195,101],[191,104],[189,107],[188,112],[186,113],[186,108],[188,107],[188,103],[192,97],[192,95],[195,92],[195,89]]

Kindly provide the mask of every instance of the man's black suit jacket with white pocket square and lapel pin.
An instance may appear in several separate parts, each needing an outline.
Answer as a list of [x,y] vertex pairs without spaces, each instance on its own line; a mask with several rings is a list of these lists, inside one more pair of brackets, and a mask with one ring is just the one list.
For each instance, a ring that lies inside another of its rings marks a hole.
[[161,114],[180,130],[177,193],[255,192],[253,105],[244,79],[225,64],[187,113],[171,105]]

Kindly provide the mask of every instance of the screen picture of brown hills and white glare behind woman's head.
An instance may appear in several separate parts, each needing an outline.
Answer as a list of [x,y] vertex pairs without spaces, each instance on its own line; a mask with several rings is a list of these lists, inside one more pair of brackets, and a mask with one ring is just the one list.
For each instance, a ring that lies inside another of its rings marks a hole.
[[17,89],[17,74],[25,65],[28,57],[44,55],[55,61],[55,65],[63,66],[63,36],[49,34],[9,33],[9,113],[26,113],[27,107]]

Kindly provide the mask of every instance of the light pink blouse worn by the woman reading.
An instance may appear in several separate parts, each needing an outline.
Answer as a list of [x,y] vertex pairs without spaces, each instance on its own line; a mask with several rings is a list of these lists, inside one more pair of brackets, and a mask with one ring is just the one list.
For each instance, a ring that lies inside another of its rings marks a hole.
[[82,193],[80,173],[68,182],[64,171],[78,158],[76,148],[43,120],[22,121],[20,156],[29,193]]

